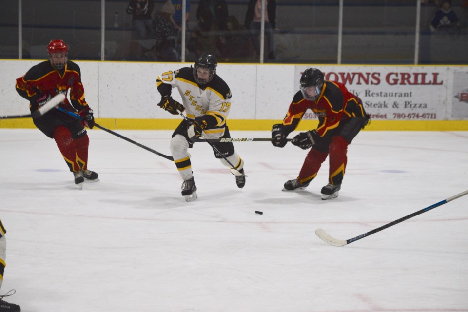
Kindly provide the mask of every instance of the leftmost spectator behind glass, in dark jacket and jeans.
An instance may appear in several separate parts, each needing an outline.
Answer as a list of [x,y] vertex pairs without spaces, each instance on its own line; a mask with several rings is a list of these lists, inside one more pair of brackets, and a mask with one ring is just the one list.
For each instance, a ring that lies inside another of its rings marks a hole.
[[127,6],[127,14],[132,14],[132,26],[137,31],[139,39],[153,38],[153,20],[151,13],[155,4],[153,0],[131,0]]

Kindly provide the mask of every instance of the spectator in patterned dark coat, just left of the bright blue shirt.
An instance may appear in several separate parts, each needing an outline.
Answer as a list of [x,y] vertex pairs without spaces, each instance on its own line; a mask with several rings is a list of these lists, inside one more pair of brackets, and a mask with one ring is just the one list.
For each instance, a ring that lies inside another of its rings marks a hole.
[[154,32],[156,38],[156,60],[178,61],[179,54],[176,50],[176,38],[178,30],[174,22],[176,9],[171,0],[167,0],[155,15]]

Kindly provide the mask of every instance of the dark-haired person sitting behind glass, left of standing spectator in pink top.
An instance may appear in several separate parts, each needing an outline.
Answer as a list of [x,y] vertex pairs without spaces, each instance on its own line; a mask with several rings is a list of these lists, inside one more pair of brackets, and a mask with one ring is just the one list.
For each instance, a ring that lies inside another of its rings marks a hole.
[[219,36],[217,47],[224,62],[243,61],[254,56],[250,38],[245,36],[246,29],[235,16],[228,17],[227,30]]

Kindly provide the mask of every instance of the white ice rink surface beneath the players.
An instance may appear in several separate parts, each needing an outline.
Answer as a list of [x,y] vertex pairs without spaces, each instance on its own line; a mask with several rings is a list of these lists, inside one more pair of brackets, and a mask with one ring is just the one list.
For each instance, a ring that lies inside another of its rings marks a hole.
[[[172,131],[117,132],[170,155]],[[349,239],[467,190],[468,132],[364,131],[329,201],[328,160],[307,190],[281,191],[307,153],[291,144],[234,143],[238,189],[196,143],[198,199],[186,202],[174,163],[89,137],[100,181],[79,190],[54,140],[0,129],[1,293],[16,289],[5,300],[23,312],[468,311],[468,196],[344,247],[314,234]]]

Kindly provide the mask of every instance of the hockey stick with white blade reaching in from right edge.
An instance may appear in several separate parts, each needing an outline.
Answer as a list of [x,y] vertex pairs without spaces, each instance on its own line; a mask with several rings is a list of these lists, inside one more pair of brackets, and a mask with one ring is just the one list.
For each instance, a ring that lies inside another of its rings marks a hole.
[[364,233],[364,234],[361,234],[361,235],[359,235],[359,236],[356,236],[356,237],[353,237],[353,238],[350,238],[350,239],[347,239],[347,240],[340,240],[340,239],[333,238],[333,237],[330,236],[330,234],[328,234],[327,232],[325,232],[325,231],[322,230],[322,229],[317,229],[317,230],[315,231],[315,234],[316,234],[321,240],[323,240],[323,241],[326,242],[326,243],[329,243],[330,245],[342,247],[342,246],[351,244],[352,242],[355,242],[356,240],[359,240],[359,239],[364,238],[364,237],[367,237],[367,236],[369,236],[369,235],[371,235],[371,234],[374,234],[374,233],[377,233],[377,232],[382,231],[382,230],[384,230],[384,229],[387,229],[387,228],[389,228],[389,227],[392,226],[392,225],[395,225],[395,224],[398,224],[398,223],[403,222],[403,221],[405,221],[405,220],[408,220],[409,218],[412,218],[413,216],[421,215],[422,213],[425,213],[425,212],[427,212],[427,211],[429,211],[429,210],[431,210],[431,209],[434,209],[434,208],[436,208],[436,207],[442,206],[443,204],[448,203],[449,201],[452,201],[452,200],[457,199],[457,198],[459,198],[459,197],[465,196],[465,195],[467,195],[467,194],[468,194],[468,190],[465,191],[465,192],[462,192],[462,193],[460,193],[460,194],[454,195],[454,196],[452,196],[452,197],[449,197],[449,198],[447,198],[447,199],[444,199],[444,200],[442,200],[442,201],[439,201],[438,203],[433,204],[433,205],[431,205],[431,206],[429,206],[429,207],[426,207],[426,208],[424,208],[424,209],[421,209],[421,210],[419,210],[419,211],[417,211],[417,212],[415,212],[415,213],[412,213],[411,215],[404,216],[404,217],[402,217],[402,218],[400,218],[400,219],[398,219],[398,220],[395,220],[395,221],[393,221],[393,222],[390,222],[390,223],[387,223],[387,224],[385,224],[385,225],[382,225],[381,227],[378,227],[378,228],[376,228],[376,229],[374,229],[374,230],[372,230],[372,231],[366,232],[366,233]]

